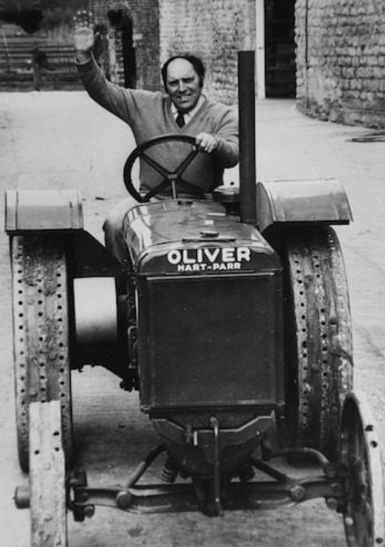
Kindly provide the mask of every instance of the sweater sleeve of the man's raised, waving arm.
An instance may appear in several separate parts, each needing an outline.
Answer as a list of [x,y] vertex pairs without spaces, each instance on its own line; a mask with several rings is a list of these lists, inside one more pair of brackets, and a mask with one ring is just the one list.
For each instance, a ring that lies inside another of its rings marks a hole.
[[[76,63],[76,66],[84,89],[91,99],[131,126],[141,109],[138,99],[141,103],[145,95],[154,95],[143,90],[132,91],[108,82],[93,57],[88,62]],[[140,94],[143,97],[139,97]]]

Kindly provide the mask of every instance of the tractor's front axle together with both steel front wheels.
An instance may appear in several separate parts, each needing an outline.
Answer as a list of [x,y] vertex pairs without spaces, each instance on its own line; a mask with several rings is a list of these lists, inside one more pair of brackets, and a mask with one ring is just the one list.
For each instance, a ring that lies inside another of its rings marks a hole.
[[[215,449],[220,430],[215,420],[211,423]],[[285,449],[269,454],[267,459],[264,454],[264,460],[250,459],[247,478],[231,481],[220,475],[219,452],[215,450],[211,478],[188,484],[138,485],[164,451],[163,445],[151,450],[128,478],[126,487],[89,487],[85,472],[66,474],[60,402],[31,403],[30,484],[18,487],[14,496],[16,507],[30,508],[31,546],[67,546],[67,511],[82,521],[92,517],[98,505],[132,513],[202,511],[218,516],[224,510],[278,509],[316,498],[324,498],[329,509],[342,514],[348,546],[384,542],[380,445],[361,394],[351,393],[345,402],[336,462],[312,448]],[[296,462],[293,474],[302,474],[299,478],[283,471],[287,469],[283,459],[290,458]],[[258,479],[253,477],[254,472]],[[56,543],[52,543],[53,538]]]

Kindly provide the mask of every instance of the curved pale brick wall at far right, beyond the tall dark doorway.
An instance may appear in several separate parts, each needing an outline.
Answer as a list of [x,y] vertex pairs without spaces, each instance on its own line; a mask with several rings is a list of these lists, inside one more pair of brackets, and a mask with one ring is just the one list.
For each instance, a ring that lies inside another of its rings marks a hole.
[[384,0],[297,0],[296,45],[304,112],[385,127]]

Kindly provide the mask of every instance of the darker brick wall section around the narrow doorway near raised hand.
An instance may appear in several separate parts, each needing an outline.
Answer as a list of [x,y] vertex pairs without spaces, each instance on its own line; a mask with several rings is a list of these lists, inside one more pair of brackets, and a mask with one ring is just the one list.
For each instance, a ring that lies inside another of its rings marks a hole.
[[137,87],[157,90],[161,82],[159,73],[159,5],[158,0],[89,0],[95,23],[108,27],[108,57],[110,78],[124,83],[121,31],[108,24],[110,8],[122,7],[132,21],[133,46],[137,66]]

